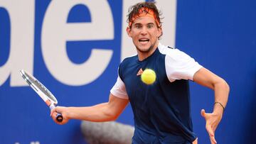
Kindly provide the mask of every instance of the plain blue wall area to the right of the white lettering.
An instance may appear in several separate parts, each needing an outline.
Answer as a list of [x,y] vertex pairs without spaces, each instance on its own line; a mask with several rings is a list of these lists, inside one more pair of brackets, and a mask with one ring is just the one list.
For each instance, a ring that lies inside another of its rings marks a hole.
[[[230,97],[218,143],[252,143],[256,136],[256,2],[178,1],[176,47],[223,77]],[[210,143],[200,110],[210,112],[213,92],[191,83],[193,128]]]

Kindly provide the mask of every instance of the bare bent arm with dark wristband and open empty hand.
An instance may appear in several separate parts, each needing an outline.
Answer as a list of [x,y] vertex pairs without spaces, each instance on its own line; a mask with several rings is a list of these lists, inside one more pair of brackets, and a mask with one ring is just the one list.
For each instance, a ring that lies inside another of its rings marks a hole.
[[227,105],[230,88],[224,79],[218,77],[204,67],[193,75],[193,81],[205,87],[209,87],[214,91],[215,102],[213,112],[206,113],[205,110],[202,109],[201,115],[206,119],[206,130],[210,136],[210,142],[212,144],[217,143],[214,133],[223,116],[225,106]]

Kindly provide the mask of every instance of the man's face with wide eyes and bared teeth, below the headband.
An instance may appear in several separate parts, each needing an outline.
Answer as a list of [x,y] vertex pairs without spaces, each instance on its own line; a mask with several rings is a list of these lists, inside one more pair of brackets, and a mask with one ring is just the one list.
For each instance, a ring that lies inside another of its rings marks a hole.
[[156,26],[154,18],[142,16],[134,20],[132,28],[127,28],[127,33],[139,52],[150,52],[157,47],[161,28]]

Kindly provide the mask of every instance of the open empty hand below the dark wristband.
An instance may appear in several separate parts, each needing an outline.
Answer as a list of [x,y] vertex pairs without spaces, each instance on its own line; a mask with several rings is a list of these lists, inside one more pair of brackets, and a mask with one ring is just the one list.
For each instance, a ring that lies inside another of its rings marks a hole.
[[204,109],[201,110],[201,116],[206,119],[206,131],[210,136],[210,143],[216,144],[215,130],[220,123],[222,113],[206,113]]

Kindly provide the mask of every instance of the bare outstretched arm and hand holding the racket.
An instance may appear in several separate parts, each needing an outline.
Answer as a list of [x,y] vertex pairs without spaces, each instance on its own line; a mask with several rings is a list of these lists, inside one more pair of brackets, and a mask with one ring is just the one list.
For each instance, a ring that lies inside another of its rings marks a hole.
[[[58,124],[65,124],[69,119],[80,119],[85,121],[103,122],[114,121],[129,103],[129,99],[121,99],[110,93],[110,99],[106,103],[86,107],[63,107],[57,106],[50,112],[53,121]],[[63,122],[55,120],[56,114],[63,115]]]

